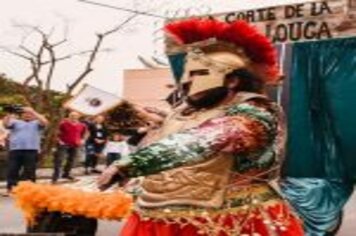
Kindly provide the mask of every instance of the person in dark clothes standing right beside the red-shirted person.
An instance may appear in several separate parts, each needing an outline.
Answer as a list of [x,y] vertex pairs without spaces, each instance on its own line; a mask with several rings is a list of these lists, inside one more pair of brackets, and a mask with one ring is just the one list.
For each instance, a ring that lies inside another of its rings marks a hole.
[[108,131],[104,125],[105,117],[96,116],[93,123],[88,123],[89,138],[86,143],[85,174],[101,173],[96,169],[98,158],[102,156]]

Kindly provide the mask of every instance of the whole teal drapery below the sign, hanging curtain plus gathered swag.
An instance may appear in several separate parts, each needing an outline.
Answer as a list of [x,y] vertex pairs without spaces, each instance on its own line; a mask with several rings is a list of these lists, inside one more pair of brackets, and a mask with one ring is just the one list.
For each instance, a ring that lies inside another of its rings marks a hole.
[[293,46],[282,192],[307,236],[337,224],[356,179],[356,38]]

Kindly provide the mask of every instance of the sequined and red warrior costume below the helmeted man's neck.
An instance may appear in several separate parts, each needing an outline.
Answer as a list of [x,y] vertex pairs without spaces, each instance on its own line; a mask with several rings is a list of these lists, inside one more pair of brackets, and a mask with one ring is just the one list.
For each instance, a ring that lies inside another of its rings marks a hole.
[[268,183],[284,138],[279,107],[238,93],[215,109],[181,109],[158,141],[123,160],[130,177],[147,177],[122,235],[303,235]]

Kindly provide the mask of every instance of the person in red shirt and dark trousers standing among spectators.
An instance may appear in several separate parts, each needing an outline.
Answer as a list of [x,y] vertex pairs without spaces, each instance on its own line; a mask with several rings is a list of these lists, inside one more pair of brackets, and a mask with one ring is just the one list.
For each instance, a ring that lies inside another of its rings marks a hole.
[[80,148],[88,137],[88,131],[85,124],[79,121],[80,114],[71,112],[68,118],[61,121],[58,130],[58,146],[54,155],[54,172],[52,183],[56,183],[60,176],[62,162],[66,159],[63,168],[62,178],[74,180],[70,175],[74,160],[78,155]]

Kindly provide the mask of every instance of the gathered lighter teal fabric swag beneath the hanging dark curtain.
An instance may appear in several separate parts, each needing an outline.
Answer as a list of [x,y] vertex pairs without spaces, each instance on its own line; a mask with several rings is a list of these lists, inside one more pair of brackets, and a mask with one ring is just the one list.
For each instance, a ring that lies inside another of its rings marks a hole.
[[281,189],[303,220],[305,235],[326,236],[338,224],[353,186],[340,180],[286,178]]

